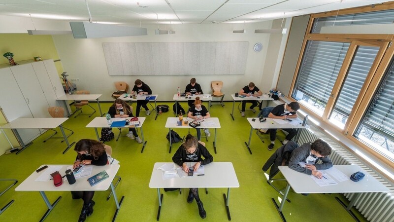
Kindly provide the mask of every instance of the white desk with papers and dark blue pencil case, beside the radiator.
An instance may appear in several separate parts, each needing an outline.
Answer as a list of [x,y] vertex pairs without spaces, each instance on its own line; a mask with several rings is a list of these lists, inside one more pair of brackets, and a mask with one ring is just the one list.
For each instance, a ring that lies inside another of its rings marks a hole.
[[[362,173],[364,173],[365,177],[359,182],[353,182],[350,179],[347,181],[338,182],[333,177],[331,177],[338,183],[337,185],[319,186],[311,178],[311,176],[292,170],[288,166],[279,166],[279,170],[280,172],[282,172],[288,184],[286,186],[285,194],[282,198],[280,206],[278,207],[274,198],[272,198],[272,201],[275,204],[275,207],[278,210],[280,216],[282,217],[282,220],[284,220],[282,209],[283,205],[286,202],[287,194],[289,193],[290,187],[292,187],[296,193],[364,193],[390,191],[389,188],[387,188],[385,185],[382,185],[367,172],[363,171],[358,165],[334,165],[334,167],[344,173],[349,178],[353,173],[356,173],[357,171],[361,171]],[[339,200],[338,198],[336,199]],[[351,208],[358,199],[358,197],[353,198],[350,201],[349,206],[346,206],[343,203],[341,204],[342,206],[347,208],[347,211],[350,214],[353,214],[353,212],[351,212]],[[356,217],[354,215],[352,216],[354,218]],[[306,219],[306,221],[308,221],[308,219]]]

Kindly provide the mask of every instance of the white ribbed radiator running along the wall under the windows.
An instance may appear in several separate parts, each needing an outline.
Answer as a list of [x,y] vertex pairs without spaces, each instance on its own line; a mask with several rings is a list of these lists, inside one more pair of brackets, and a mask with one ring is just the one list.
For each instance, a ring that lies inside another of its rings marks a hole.
[[[295,138],[299,145],[313,142],[317,139],[326,141],[332,148],[330,159],[334,165],[359,165],[364,171],[368,172],[382,184],[386,185],[389,192],[378,193],[361,193],[358,195],[358,200],[355,201],[354,207],[371,222],[394,222],[394,187],[385,178],[380,176],[378,172],[368,167],[358,157],[350,153],[346,148],[342,147],[335,139],[331,138],[326,133],[323,133],[315,126],[310,126],[309,129],[301,130]],[[351,201],[356,198],[355,193],[344,193],[344,196]]]

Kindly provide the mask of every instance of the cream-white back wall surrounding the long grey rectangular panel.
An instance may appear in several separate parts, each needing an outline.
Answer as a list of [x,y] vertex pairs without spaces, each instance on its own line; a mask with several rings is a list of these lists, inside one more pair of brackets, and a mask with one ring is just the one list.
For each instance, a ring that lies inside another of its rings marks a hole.
[[[243,26],[243,25],[242,25]],[[210,82],[222,80],[224,82],[223,92],[225,100],[230,100],[230,94],[239,91],[250,81],[256,83],[263,92],[268,92],[272,87],[274,73],[264,73],[264,63],[267,51],[269,34],[254,34],[255,29],[270,29],[272,21],[245,24],[246,34],[233,34],[232,30],[242,29],[239,24],[181,24],[171,25],[176,31],[173,35],[155,35],[156,25],[143,25],[148,29],[148,36],[139,37],[112,37],[97,39],[74,39],[71,35],[53,36],[59,57],[62,60],[64,70],[69,74],[68,78],[79,78],[78,89],[90,90],[92,94],[103,94],[100,100],[113,101],[111,95],[115,90],[114,82],[126,81],[132,87],[135,79],[140,78],[147,83],[154,94],[159,94],[159,101],[172,100],[177,87],[184,90],[190,78],[196,77],[204,93],[211,93]],[[169,27],[168,27],[169,28]],[[164,29],[164,27],[161,27]],[[286,38],[286,35],[283,35]],[[185,76],[109,76],[102,42],[214,42],[214,41],[249,41],[249,52],[245,75],[185,75]],[[263,50],[254,52],[253,46],[261,42]],[[284,47],[284,45],[282,46]],[[280,50],[270,49],[270,50]],[[274,53],[278,55],[278,52]],[[269,66],[276,67],[276,63]],[[267,81],[268,80],[268,81]],[[274,80],[276,84],[276,80]]]

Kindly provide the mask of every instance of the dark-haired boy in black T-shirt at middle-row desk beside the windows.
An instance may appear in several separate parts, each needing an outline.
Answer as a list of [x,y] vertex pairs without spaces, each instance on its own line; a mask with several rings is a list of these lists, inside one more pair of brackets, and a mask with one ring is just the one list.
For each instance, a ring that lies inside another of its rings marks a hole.
[[[279,106],[274,107],[272,111],[268,114],[268,118],[273,119],[292,119],[297,118],[297,110],[299,110],[299,104],[297,102],[291,102],[289,104],[281,104]],[[276,130],[277,129],[269,129],[269,138],[271,140],[271,144],[268,145],[268,150],[272,150],[275,145],[276,139]],[[287,144],[289,141],[293,139],[297,135],[297,131],[295,129],[282,129],[289,134],[287,134],[285,140],[282,144]]]

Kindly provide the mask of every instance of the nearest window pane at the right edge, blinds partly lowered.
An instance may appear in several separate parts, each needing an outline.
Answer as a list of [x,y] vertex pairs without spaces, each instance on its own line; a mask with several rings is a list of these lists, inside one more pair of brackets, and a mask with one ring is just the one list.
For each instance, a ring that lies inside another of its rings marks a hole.
[[355,136],[394,160],[394,58]]

